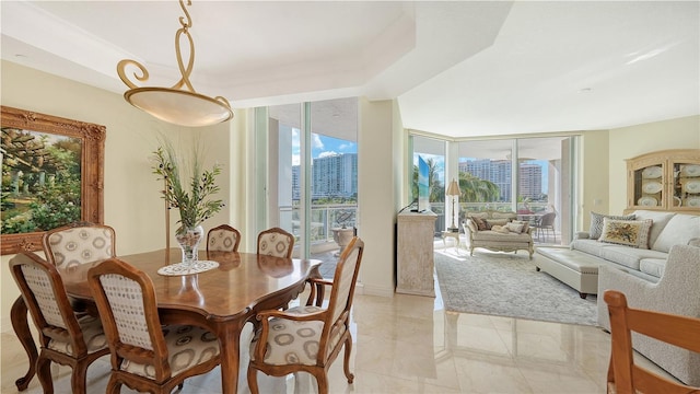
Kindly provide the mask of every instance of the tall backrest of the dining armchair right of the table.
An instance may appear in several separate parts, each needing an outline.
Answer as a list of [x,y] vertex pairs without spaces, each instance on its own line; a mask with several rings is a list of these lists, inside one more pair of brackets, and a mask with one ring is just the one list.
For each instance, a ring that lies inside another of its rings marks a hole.
[[328,346],[328,340],[338,333],[338,329],[343,326],[345,329],[349,329],[350,309],[352,308],[363,251],[364,242],[358,236],[353,236],[338,258],[328,299],[328,314],[320,334],[319,361],[325,360],[329,356],[329,351],[332,350]]

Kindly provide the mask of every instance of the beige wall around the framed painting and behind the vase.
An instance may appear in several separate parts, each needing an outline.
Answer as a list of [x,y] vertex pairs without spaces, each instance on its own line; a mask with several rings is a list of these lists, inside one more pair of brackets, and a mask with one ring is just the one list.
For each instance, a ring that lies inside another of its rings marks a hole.
[[[151,173],[151,152],[163,132],[177,142],[192,134],[202,134],[208,163],[224,165],[221,197],[229,201],[229,128],[235,123],[205,129],[170,126],[126,103],[121,94],[75,83],[12,62],[2,62],[1,104],[54,116],[106,126],[105,141],[105,223],[117,233],[117,254],[150,251],[165,245],[162,183]],[[209,142],[211,141],[211,142]],[[214,143],[215,142],[215,143]],[[231,206],[231,204],[228,204]],[[218,223],[230,216],[229,207],[205,223]],[[172,225],[178,216],[173,213]],[[171,231],[173,233],[173,231]],[[176,245],[174,239],[172,245]],[[19,290],[8,270],[12,255],[1,258],[1,329],[10,329],[10,308]]]

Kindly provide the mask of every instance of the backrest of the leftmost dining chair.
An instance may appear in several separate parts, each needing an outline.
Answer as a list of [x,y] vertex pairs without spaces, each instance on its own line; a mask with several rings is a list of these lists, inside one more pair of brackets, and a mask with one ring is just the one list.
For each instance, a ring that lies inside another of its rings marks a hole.
[[10,259],[10,271],[20,288],[42,345],[50,339],[72,346],[73,356],[85,355],[88,347],[75,313],[70,305],[63,281],[55,265],[32,252],[22,252]]

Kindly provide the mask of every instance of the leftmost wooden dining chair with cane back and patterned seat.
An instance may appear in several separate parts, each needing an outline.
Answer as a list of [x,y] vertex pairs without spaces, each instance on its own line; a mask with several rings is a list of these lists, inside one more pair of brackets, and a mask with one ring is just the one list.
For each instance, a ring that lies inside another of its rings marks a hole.
[[36,370],[44,393],[54,392],[51,361],[70,366],[71,391],[85,393],[88,367],[109,354],[102,322],[74,313],[58,269],[36,254],[15,255],[10,271],[38,331]]

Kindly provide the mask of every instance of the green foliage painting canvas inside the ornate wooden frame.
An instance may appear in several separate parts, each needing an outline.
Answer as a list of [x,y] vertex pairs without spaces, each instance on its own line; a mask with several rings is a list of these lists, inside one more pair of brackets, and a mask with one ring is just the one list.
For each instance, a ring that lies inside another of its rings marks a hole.
[[80,220],[81,139],[3,127],[1,147],[3,234]]

